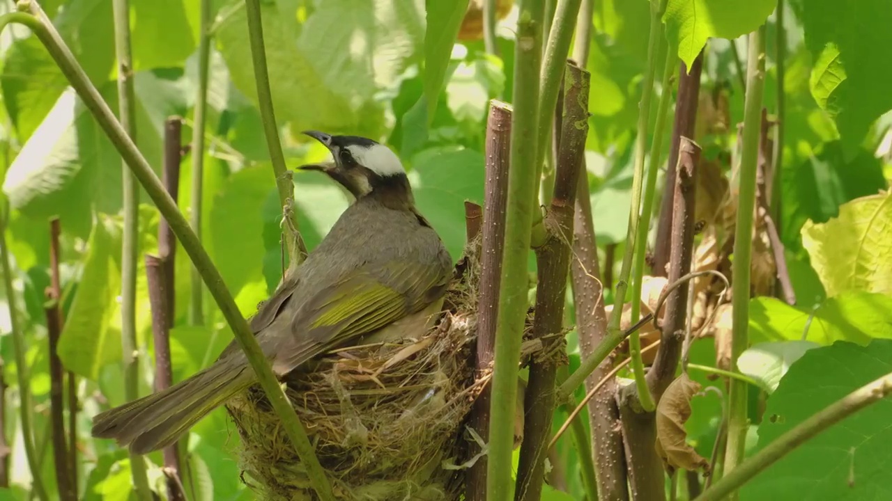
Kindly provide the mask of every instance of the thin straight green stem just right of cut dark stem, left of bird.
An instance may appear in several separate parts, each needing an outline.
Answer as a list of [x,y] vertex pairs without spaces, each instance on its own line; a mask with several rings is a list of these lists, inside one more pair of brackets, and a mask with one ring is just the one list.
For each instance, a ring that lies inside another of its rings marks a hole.
[[[204,197],[204,124],[208,107],[208,74],[211,67],[211,0],[201,0],[198,27],[198,90],[195,95],[192,126],[192,229],[202,239],[202,201]],[[204,324],[204,287],[198,268],[189,277],[189,323]]]

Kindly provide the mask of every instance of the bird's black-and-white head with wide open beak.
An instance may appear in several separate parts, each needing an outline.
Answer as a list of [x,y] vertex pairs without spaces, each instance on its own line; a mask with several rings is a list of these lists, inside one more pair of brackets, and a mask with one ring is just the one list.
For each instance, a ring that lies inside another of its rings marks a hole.
[[384,144],[366,137],[331,136],[308,130],[303,134],[316,139],[332,153],[332,160],[302,165],[303,170],[318,170],[343,185],[358,200],[376,195],[385,202],[412,204],[412,190],[400,158]]

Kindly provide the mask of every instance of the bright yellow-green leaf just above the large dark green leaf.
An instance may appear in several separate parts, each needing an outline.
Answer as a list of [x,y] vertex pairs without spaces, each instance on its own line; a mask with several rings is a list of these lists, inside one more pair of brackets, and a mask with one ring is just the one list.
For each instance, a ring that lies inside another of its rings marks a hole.
[[871,292],[843,292],[813,308],[794,308],[774,298],[749,301],[752,341],[807,339],[823,345],[833,341],[867,344],[892,339],[892,298]]

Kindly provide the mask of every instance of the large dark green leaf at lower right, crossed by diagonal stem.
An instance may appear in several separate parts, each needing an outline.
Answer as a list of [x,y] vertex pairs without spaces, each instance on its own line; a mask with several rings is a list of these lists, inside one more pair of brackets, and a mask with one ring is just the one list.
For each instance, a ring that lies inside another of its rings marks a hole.
[[[807,351],[768,399],[757,448],[890,372],[892,341],[877,340],[867,347],[837,342]],[[830,426],[744,485],[740,499],[888,499],[889,415],[892,399],[886,398]]]

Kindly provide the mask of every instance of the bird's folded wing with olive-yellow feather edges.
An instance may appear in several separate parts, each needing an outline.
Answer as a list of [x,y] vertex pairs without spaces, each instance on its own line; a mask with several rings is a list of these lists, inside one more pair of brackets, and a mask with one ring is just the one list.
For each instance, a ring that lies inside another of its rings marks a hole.
[[444,288],[439,269],[415,261],[360,267],[302,305],[291,324],[292,341],[276,356],[277,372],[424,308]]

